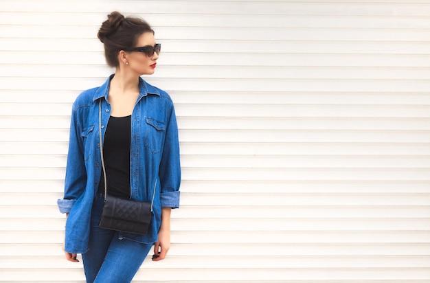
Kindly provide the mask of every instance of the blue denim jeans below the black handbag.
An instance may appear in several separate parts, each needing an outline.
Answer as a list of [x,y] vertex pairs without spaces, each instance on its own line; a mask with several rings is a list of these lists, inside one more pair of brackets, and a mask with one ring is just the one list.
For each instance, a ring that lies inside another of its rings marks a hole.
[[87,283],[129,283],[153,243],[120,238],[118,231],[98,227],[103,205],[103,194],[97,194],[91,211],[89,250],[82,254],[85,277]]

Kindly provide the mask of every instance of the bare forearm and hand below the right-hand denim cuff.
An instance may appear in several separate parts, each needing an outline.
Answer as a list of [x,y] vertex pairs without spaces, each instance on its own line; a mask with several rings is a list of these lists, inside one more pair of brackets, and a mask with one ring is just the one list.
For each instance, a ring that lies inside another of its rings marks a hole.
[[170,207],[161,209],[161,227],[158,232],[158,242],[154,244],[154,256],[152,260],[157,262],[163,260],[167,256],[170,249]]

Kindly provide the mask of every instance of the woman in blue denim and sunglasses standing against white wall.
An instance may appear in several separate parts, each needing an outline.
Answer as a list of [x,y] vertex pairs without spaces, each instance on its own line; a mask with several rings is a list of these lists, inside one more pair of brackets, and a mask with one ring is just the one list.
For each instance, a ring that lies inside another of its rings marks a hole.
[[[170,248],[170,211],[179,207],[181,179],[178,129],[168,93],[140,78],[154,73],[161,49],[150,25],[112,12],[98,38],[116,71],[73,103],[65,194],[58,200],[67,215],[63,249],[72,262],[82,253],[87,282],[131,282],[152,245],[155,261]],[[153,198],[146,235],[99,227],[104,205],[99,128],[107,194],[146,202]]]

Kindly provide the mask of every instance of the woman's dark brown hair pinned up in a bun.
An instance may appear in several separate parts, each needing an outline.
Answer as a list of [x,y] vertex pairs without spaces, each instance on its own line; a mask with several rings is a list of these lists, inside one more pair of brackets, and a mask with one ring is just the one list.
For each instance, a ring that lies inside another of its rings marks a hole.
[[145,32],[154,30],[143,19],[127,16],[120,12],[111,12],[102,23],[97,37],[104,44],[104,56],[111,67],[118,67],[118,54],[121,50],[135,47],[137,39]]

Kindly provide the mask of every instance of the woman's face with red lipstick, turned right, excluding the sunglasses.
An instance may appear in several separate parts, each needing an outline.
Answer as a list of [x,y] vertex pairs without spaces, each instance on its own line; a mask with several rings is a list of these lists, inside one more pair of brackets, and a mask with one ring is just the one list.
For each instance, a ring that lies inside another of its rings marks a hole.
[[[152,32],[145,32],[137,39],[135,47],[154,46],[155,38]],[[155,71],[157,65],[158,54],[154,54],[150,57],[145,52],[129,52],[126,56],[128,65],[126,68],[134,71],[138,76],[151,75]]]

